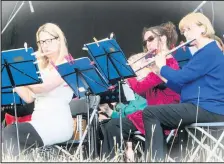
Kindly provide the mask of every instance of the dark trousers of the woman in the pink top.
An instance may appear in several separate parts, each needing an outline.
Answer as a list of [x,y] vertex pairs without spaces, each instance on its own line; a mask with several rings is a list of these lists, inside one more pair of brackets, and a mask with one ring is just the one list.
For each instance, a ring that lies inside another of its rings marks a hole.
[[[107,159],[115,157],[115,145],[120,146],[120,119],[114,118],[107,123],[101,124],[101,130],[103,133],[103,145],[102,145],[102,157],[105,156]],[[122,132],[123,139],[127,140],[130,134],[130,130],[136,131],[137,128],[128,118],[122,118]],[[116,144],[114,141],[116,138]]]

